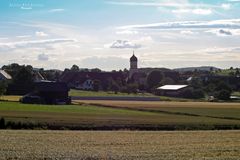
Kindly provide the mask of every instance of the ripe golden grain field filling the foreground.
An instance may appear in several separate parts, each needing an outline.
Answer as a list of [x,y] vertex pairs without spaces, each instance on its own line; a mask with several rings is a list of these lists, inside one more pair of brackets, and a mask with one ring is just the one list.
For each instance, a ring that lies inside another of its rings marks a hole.
[[238,160],[240,131],[0,131],[0,159]]

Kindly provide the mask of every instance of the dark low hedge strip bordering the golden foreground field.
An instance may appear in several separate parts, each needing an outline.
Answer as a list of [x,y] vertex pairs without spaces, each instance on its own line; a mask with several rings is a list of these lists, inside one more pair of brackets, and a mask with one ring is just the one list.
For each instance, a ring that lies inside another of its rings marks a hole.
[[0,119],[0,129],[30,129],[30,130],[144,130],[144,131],[175,131],[175,130],[231,130],[240,129],[240,125],[56,125],[29,122],[6,122]]

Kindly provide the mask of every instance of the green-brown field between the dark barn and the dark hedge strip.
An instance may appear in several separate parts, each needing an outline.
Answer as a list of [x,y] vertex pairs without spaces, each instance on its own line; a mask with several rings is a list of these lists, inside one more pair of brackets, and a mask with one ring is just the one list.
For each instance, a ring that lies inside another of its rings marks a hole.
[[[129,104],[130,103],[134,104],[134,102],[129,102]],[[184,104],[184,102],[182,103]],[[149,102],[148,105],[150,104],[151,102]],[[196,105],[197,104],[198,103],[196,103]],[[138,105],[138,107],[141,106]],[[173,113],[139,110],[139,108],[104,107],[89,104],[56,106],[0,102],[0,117],[4,117],[7,121],[42,124],[52,127],[58,126],[70,129],[71,127],[75,127],[76,129],[108,130],[164,130],[169,129],[169,127],[170,129],[214,129],[216,126],[228,126],[228,128],[236,128],[237,126],[237,128],[240,128],[240,120],[238,119],[239,106],[234,106],[237,112],[231,113],[232,115],[227,115],[227,118],[175,113],[195,112],[194,105],[188,109],[171,108],[170,106],[165,107],[169,107]],[[207,113],[204,109],[205,108],[198,112]],[[216,113],[224,115],[226,110],[221,109],[221,107],[216,108]]]

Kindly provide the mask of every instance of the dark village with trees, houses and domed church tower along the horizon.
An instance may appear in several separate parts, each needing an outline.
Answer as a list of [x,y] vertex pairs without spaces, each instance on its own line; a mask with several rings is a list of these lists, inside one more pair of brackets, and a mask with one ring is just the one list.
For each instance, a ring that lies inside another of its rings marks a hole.
[[[192,70],[191,68],[190,70],[139,68],[138,58],[134,53],[129,62],[129,69],[112,72],[80,69],[77,65],[60,71],[11,64],[3,66],[0,70],[1,94],[25,95],[21,98],[21,102],[40,104],[70,104],[71,97],[68,92],[71,89],[112,91],[115,94],[151,93],[158,96],[206,101],[239,99],[237,96],[232,96],[232,93],[240,90],[238,68],[231,68],[229,74],[225,75],[221,74],[223,72],[221,69],[214,67]],[[104,100],[103,97],[99,99]]]

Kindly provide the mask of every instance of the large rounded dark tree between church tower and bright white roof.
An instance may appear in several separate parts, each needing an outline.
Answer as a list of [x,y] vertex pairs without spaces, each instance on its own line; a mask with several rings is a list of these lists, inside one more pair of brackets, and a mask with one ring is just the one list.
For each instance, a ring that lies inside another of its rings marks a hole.
[[147,85],[149,89],[157,87],[163,79],[163,73],[161,71],[152,71],[147,77]]

